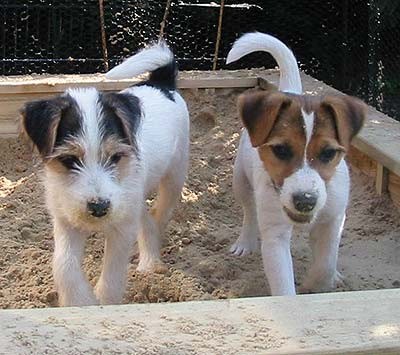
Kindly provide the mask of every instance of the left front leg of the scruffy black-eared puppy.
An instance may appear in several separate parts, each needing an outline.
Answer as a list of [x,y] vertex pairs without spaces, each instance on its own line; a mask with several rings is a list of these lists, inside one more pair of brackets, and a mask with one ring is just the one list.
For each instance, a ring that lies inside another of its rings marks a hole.
[[53,275],[60,306],[98,303],[82,270],[86,238],[83,232],[55,219]]

